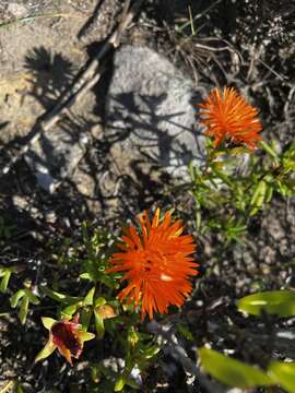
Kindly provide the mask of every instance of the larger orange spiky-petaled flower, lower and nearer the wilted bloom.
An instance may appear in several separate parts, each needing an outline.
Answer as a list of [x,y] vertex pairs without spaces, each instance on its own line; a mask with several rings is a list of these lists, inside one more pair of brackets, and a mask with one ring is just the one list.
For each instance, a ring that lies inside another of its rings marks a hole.
[[142,320],[148,313],[153,319],[154,312],[166,313],[169,305],[181,306],[190,294],[192,285],[189,276],[197,275],[198,264],[191,254],[196,245],[190,235],[181,235],[182,223],[172,223],[170,213],[160,222],[160,209],[151,222],[148,213],[140,216],[141,230],[130,226],[123,228],[120,252],[113,254],[111,272],[123,272],[122,281],[128,285],[118,298],[141,302]]

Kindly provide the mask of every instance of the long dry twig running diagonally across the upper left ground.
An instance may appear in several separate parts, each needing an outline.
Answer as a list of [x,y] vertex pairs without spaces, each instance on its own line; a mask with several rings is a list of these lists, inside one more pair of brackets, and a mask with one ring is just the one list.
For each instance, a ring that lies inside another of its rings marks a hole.
[[30,138],[30,141],[19,151],[19,153],[10,160],[10,163],[2,169],[2,174],[8,174],[12,166],[28,151],[32,144],[36,143],[42,133],[48,131],[57,121],[66,109],[76,103],[90,88],[92,88],[99,80],[102,71],[98,71],[102,59],[111,49],[117,48],[120,44],[121,35],[137,14],[142,0],[137,1],[133,7],[130,8],[131,0],[126,0],[121,16],[116,31],[111,34],[108,40],[104,44],[96,57],[91,61],[85,71],[74,82],[72,87],[62,95],[57,103],[56,107],[45,115],[43,121],[37,121],[34,134]]

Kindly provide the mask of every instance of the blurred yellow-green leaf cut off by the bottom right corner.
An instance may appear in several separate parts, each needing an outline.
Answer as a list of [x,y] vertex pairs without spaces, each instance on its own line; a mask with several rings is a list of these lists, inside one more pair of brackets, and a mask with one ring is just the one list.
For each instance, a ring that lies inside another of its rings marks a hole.
[[268,371],[271,378],[288,393],[295,393],[295,361],[272,361]]

